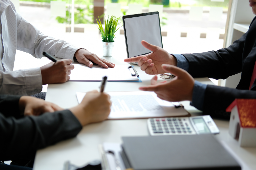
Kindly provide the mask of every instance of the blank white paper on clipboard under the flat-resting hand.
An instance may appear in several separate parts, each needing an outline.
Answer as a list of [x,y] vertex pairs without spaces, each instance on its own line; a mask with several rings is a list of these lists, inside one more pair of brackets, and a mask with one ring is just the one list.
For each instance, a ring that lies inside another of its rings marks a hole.
[[108,76],[108,81],[136,81],[137,76],[132,76],[130,64],[116,65],[114,68],[104,68],[99,65],[88,67],[84,64],[74,64],[71,70],[70,81],[101,81],[103,76]]

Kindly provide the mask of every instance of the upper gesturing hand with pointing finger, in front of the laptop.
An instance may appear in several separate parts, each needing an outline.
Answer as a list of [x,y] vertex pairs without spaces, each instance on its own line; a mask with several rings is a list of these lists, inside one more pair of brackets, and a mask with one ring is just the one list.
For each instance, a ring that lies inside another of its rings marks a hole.
[[147,74],[163,74],[166,73],[162,68],[162,64],[171,64],[177,66],[177,59],[173,55],[170,55],[163,48],[156,45],[152,45],[146,41],[142,41],[141,44],[152,53],[141,55],[137,57],[131,57],[124,59],[125,62],[138,62],[141,66],[141,70]]

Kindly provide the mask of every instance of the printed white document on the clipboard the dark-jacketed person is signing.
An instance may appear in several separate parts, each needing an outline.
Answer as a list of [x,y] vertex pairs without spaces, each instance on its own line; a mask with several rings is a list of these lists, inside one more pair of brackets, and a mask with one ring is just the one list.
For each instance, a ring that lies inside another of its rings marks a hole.
[[[78,103],[86,93],[77,92]],[[150,117],[187,116],[188,112],[175,108],[172,102],[159,99],[154,92],[108,92],[112,106],[108,119],[136,119]],[[99,103],[100,104],[100,103]]]

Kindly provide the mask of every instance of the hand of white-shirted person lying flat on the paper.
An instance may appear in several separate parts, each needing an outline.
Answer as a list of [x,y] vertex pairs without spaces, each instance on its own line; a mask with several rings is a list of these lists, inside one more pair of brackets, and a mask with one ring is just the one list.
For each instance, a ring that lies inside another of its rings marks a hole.
[[75,57],[77,58],[77,61],[79,63],[85,64],[89,67],[92,67],[92,62],[105,68],[115,67],[114,63],[111,63],[103,58],[100,58],[96,54],[93,54],[83,48],[76,51]]

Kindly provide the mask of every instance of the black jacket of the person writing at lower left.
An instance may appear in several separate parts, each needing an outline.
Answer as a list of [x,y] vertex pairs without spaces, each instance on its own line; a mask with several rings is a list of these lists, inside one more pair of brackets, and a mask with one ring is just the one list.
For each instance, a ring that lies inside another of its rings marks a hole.
[[17,96],[0,95],[0,160],[34,159],[36,150],[75,137],[82,126],[69,111],[20,114]]

